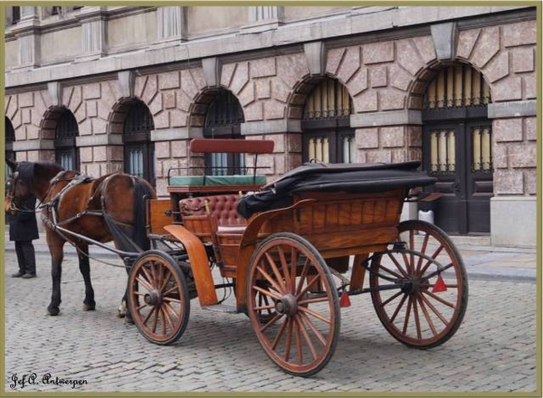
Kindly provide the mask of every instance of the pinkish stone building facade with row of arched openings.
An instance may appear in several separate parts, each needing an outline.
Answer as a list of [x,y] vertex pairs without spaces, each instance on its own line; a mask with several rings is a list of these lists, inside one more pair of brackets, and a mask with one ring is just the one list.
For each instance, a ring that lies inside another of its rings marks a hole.
[[[421,160],[435,223],[535,246],[536,5],[5,7],[6,156],[167,194],[194,137],[311,159]],[[9,132],[9,134],[7,134]],[[519,222],[521,221],[521,222]]]

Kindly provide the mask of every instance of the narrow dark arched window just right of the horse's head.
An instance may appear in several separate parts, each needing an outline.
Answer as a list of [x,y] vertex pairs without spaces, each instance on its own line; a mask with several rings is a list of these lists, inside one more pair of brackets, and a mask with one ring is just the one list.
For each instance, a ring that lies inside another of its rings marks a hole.
[[77,120],[69,109],[64,109],[54,131],[54,157],[65,170],[80,169],[79,149],[75,146],[78,135]]

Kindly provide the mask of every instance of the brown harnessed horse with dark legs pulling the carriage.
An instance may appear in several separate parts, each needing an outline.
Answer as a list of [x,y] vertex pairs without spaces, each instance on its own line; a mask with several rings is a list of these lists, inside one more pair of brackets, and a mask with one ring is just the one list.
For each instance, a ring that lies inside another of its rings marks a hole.
[[[38,208],[42,209],[52,257],[52,298],[47,311],[50,315],[60,313],[65,242],[71,242],[78,251],[85,281],[83,310],[94,309],[89,264],[91,242],[69,232],[94,242],[114,241],[120,251],[148,250],[145,220],[141,214],[145,214],[145,197],[157,197],[155,190],[147,181],[132,175],[110,174],[92,179],[74,171],[64,171],[62,166],[54,163],[16,163],[8,159],[6,163],[12,170],[11,178],[6,181],[6,213],[16,212],[20,201],[28,196],[36,197]],[[129,257],[121,257],[129,266]]]

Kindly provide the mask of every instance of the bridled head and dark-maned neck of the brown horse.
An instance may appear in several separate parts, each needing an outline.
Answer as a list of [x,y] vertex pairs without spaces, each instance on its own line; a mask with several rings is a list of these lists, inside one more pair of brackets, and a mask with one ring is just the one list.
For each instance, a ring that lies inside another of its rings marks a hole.
[[5,213],[16,213],[19,205],[30,197],[40,200],[49,189],[54,175],[62,166],[54,163],[14,162],[5,159],[11,174],[5,180]]

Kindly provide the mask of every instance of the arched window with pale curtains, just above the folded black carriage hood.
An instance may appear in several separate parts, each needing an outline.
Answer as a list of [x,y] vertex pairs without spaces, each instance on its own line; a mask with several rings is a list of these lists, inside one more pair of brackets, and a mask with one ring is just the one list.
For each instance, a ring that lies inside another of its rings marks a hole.
[[304,162],[356,162],[355,132],[349,127],[352,112],[353,101],[339,81],[326,79],[315,86],[301,120]]

